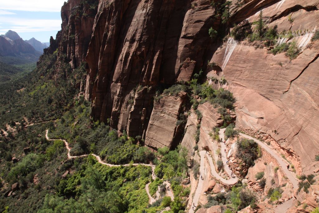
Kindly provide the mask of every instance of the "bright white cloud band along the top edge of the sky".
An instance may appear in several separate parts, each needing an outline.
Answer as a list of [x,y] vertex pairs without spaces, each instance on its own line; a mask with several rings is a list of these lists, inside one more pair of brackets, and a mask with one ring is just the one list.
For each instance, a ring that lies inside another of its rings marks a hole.
[[60,12],[67,0],[0,0],[0,9],[19,11]]

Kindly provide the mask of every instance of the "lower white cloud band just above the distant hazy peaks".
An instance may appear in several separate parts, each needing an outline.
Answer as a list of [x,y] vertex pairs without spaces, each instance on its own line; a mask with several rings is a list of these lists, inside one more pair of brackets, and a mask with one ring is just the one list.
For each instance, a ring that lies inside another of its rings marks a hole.
[[[0,19],[3,17],[0,16]],[[4,20],[4,19],[3,19]],[[0,34],[6,33],[8,30],[15,31],[17,33],[26,33],[26,32],[44,32],[44,31],[53,31],[61,29],[61,20],[51,20],[51,19],[5,19],[3,22],[6,25],[10,25],[10,28],[4,29],[0,27]]]

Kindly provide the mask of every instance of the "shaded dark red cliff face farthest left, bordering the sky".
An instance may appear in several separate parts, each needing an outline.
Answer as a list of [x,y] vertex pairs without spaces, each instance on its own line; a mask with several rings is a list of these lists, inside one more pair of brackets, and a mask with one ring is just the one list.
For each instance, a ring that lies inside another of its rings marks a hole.
[[[71,68],[77,68],[85,59],[98,1],[70,0],[61,10],[62,30],[57,34],[58,62],[68,62]],[[50,40],[50,45],[51,40]],[[57,65],[58,72],[65,72],[62,64]]]

